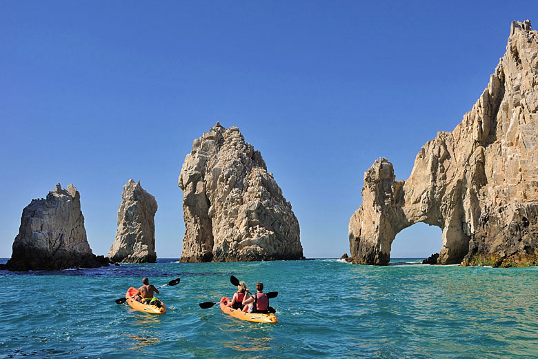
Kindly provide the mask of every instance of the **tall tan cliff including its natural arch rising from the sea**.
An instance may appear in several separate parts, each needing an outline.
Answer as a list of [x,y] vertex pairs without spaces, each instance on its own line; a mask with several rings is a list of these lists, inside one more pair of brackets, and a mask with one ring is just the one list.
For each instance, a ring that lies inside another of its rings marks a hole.
[[425,144],[406,181],[377,159],[349,224],[353,261],[388,264],[395,235],[443,230],[439,264],[538,263],[538,32],[512,22],[506,54],[463,121]]

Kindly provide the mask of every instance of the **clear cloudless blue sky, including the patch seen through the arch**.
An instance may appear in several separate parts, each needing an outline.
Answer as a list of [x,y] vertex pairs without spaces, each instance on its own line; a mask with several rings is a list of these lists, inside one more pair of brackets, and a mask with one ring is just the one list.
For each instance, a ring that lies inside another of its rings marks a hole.
[[[349,252],[363,173],[397,179],[475,103],[510,21],[537,1],[2,1],[0,257],[57,182],[81,193],[88,242],[114,241],[123,184],[157,198],[157,255],[178,258],[177,177],[217,120],[261,151],[309,258]],[[392,257],[441,248],[417,224]]]

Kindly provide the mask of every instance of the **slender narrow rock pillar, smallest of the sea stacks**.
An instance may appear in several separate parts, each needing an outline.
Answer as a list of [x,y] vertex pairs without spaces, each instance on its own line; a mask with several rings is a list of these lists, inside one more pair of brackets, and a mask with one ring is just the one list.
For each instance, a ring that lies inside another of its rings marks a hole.
[[155,263],[155,197],[132,179],[123,186],[118,209],[116,240],[108,258],[112,262]]

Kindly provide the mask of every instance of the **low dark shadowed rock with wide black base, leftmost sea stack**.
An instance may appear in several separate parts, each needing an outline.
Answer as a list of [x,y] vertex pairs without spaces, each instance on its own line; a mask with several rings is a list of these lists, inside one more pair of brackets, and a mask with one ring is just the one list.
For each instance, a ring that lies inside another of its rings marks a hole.
[[10,271],[58,270],[73,267],[108,266],[102,255],[92,253],[80,193],[72,184],[67,189],[56,185],[45,200],[32,200],[23,209],[19,234],[6,264]]

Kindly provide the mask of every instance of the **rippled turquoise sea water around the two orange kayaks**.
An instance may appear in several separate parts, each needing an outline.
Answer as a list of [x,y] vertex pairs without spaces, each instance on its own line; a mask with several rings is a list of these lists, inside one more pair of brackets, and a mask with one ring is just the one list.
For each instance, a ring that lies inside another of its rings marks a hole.
[[[4,261],[5,262],[5,261]],[[397,263],[399,262],[399,263]],[[408,263],[406,263],[408,262]],[[0,271],[0,358],[537,358],[538,268],[387,267],[337,260],[123,264],[80,271]],[[277,324],[215,305],[258,280]],[[163,316],[117,305],[148,276]]]

